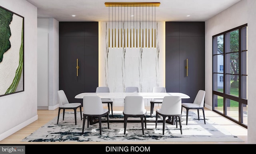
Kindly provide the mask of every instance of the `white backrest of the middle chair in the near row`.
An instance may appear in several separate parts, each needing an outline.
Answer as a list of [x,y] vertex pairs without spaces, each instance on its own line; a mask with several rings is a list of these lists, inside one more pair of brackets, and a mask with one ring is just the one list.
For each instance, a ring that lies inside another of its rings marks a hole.
[[144,114],[145,104],[142,96],[126,96],[124,98],[124,114]]

